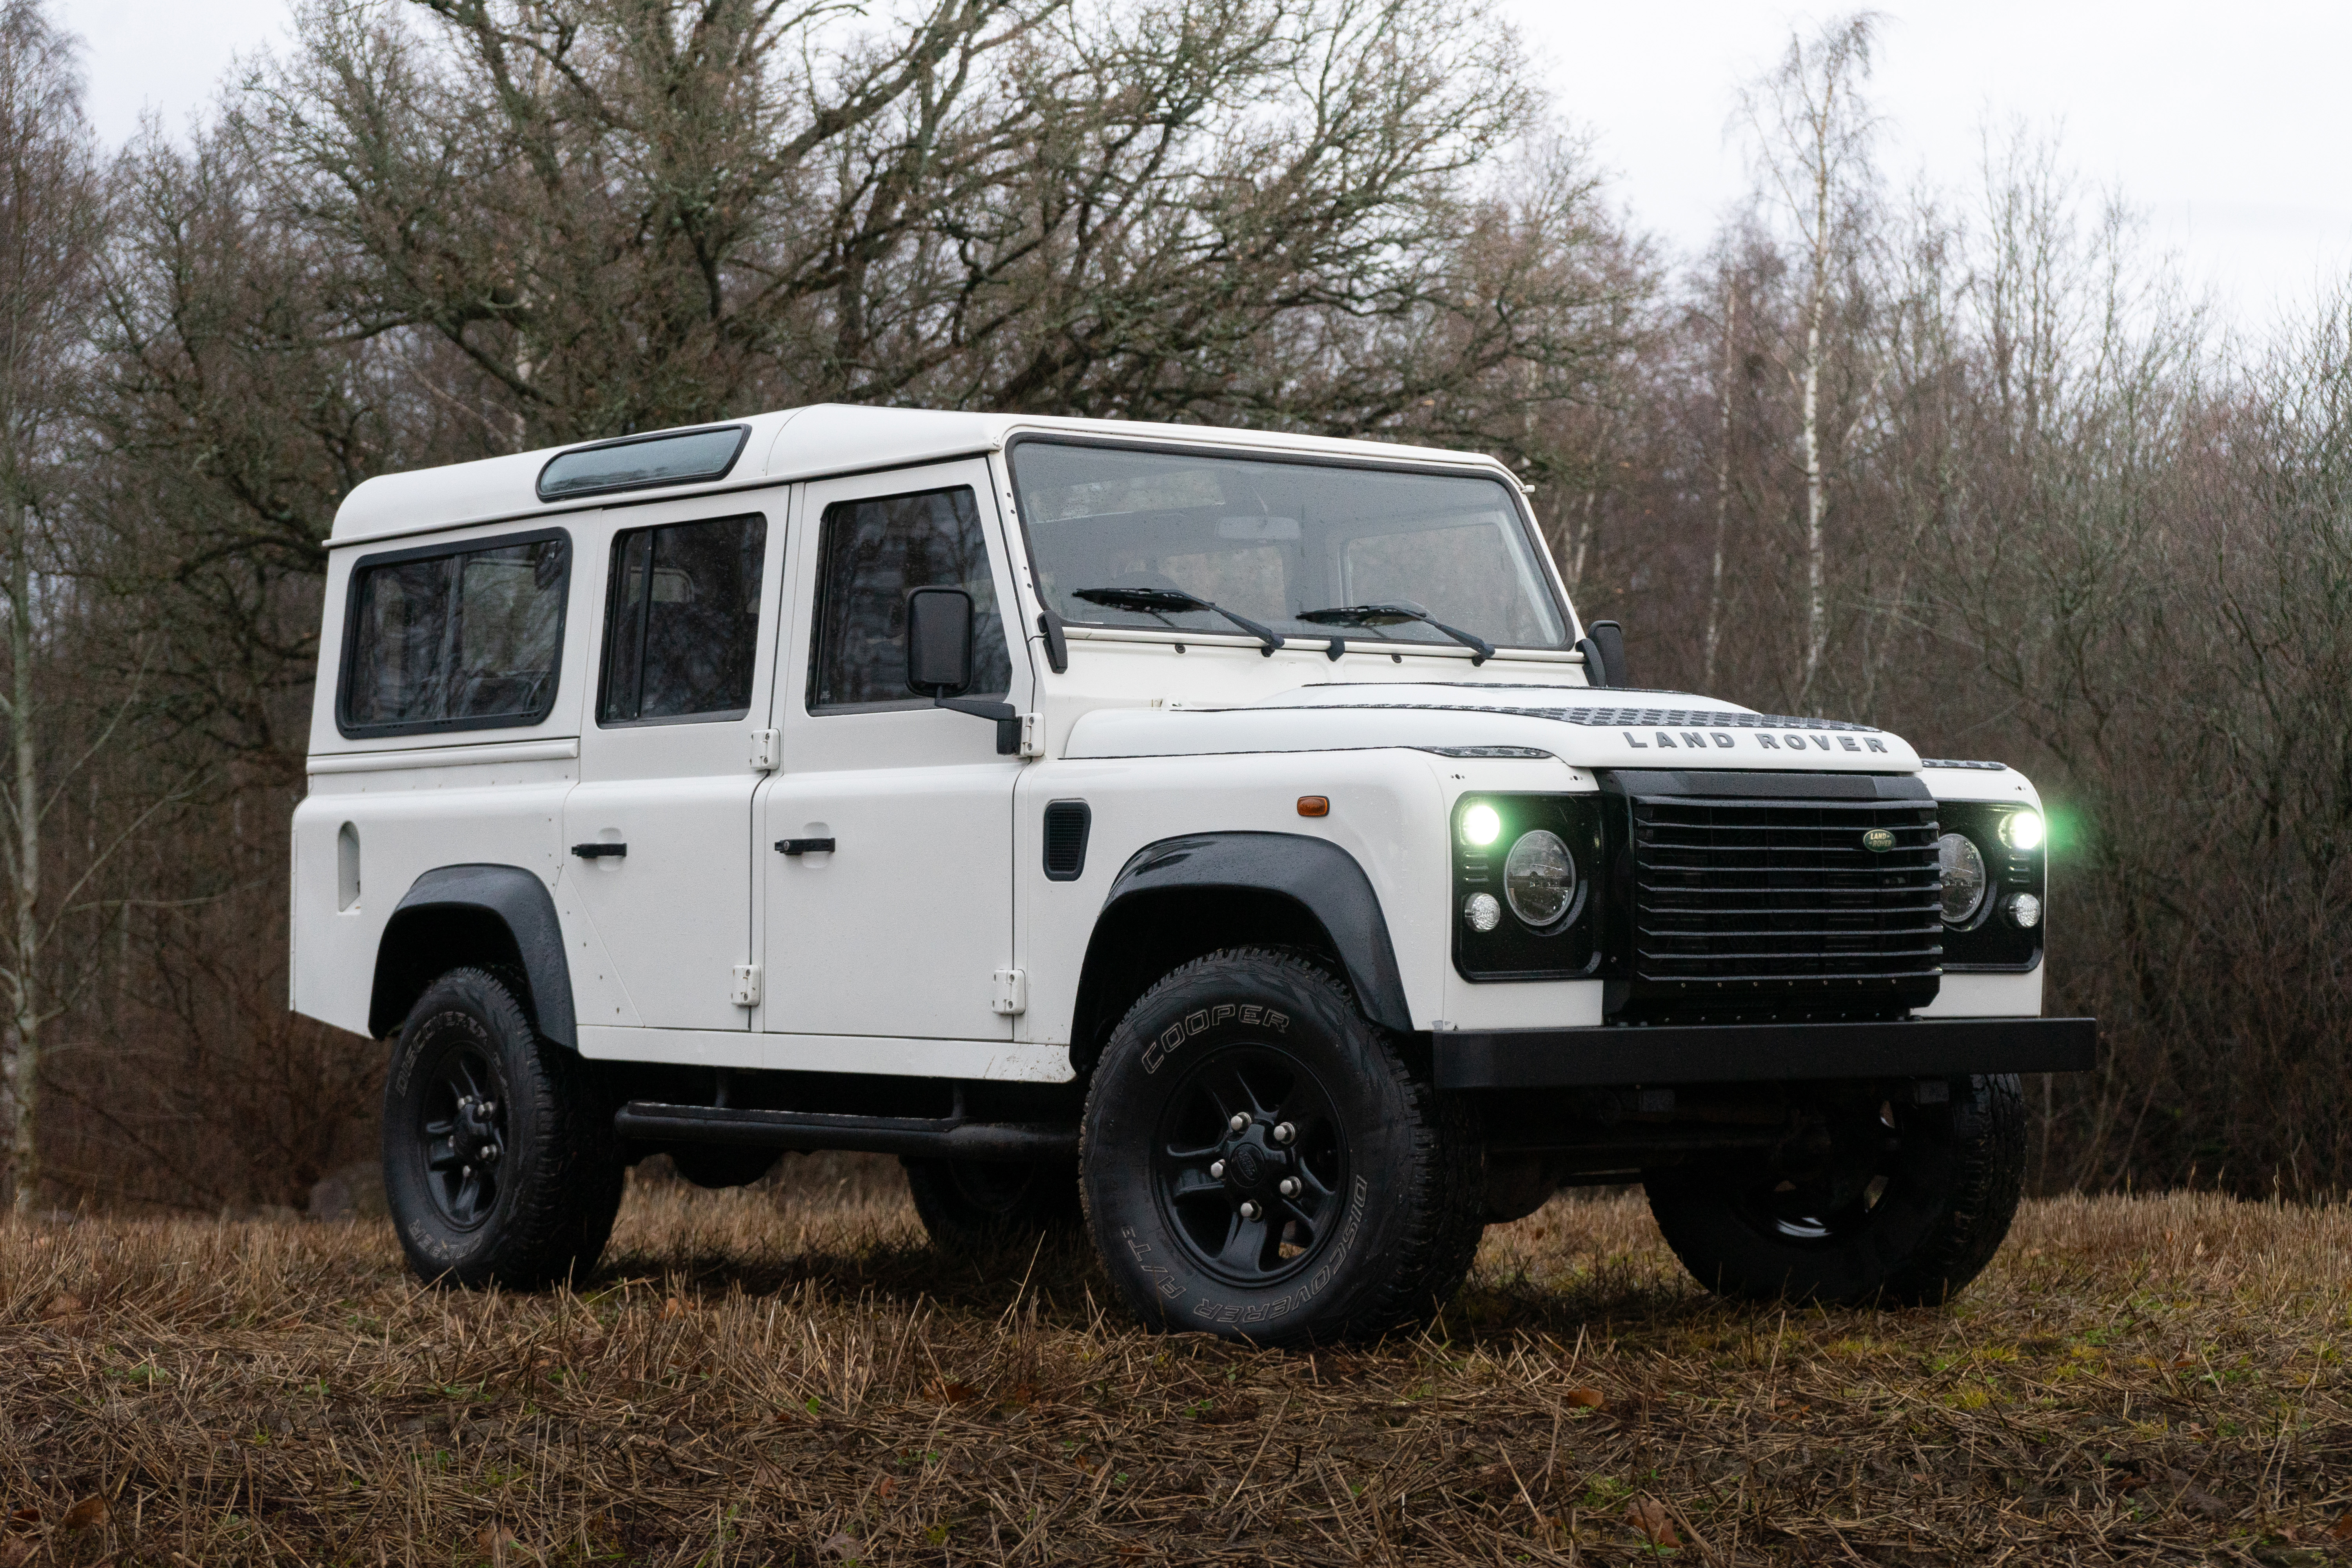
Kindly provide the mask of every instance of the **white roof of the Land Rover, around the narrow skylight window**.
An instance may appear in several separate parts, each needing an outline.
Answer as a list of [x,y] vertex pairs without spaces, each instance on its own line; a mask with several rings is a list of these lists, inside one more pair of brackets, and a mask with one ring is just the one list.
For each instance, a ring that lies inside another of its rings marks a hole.
[[[696,491],[746,489],[781,480],[816,480],[835,473],[858,473],[868,468],[903,468],[908,463],[934,463],[943,458],[997,451],[1023,430],[1056,430],[1073,435],[1108,435],[1124,440],[1188,442],[1214,447],[1258,447],[1265,451],[1296,451],[1322,456],[1404,458],[1416,463],[1461,463],[1505,473],[1501,463],[1479,454],[1439,451],[1432,447],[1399,447],[1392,442],[1343,442],[1319,435],[1284,435],[1268,430],[1223,430],[1214,425],[1152,425],[1122,418],[1044,418],[1030,414],[948,414],[941,409],[861,409],[842,402],[818,402],[804,409],[781,409],[776,414],[753,414],[741,421],[750,425],[750,440],[734,470],[715,484],[663,484],[621,496],[581,496],[567,501],[539,498],[539,470],[567,447],[541,451],[517,451],[506,458],[482,458],[477,463],[449,463],[447,468],[419,468],[414,473],[379,475],[365,480],[343,496],[334,515],[329,543],[348,545],[397,534],[423,534],[475,522],[508,522],[576,512],[607,505],[612,501],[637,501],[644,496],[691,496]],[[694,428],[694,425],[684,425]],[[588,447],[593,442],[576,442]]]

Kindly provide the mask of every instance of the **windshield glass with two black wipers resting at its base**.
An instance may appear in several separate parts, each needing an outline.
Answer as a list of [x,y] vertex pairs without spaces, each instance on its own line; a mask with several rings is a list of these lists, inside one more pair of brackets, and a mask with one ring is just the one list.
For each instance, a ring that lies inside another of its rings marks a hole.
[[1569,642],[1498,480],[1040,440],[1018,442],[1011,468],[1037,592],[1065,621]]

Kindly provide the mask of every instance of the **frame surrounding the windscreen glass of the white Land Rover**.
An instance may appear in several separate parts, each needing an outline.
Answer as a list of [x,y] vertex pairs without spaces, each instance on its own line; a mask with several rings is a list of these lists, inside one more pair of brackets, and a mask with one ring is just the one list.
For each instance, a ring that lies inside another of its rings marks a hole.
[[[1058,430],[1025,430],[1021,435],[1014,435],[1009,442],[1004,442],[1004,487],[1007,487],[1007,494],[1011,498],[1014,527],[1021,534],[1021,559],[1028,567],[1028,583],[1025,583],[1025,588],[1028,588],[1030,597],[1035,597],[1037,609],[1044,611],[1044,614],[1049,614],[1061,625],[1082,628],[1082,630],[1089,630],[1089,632],[1117,632],[1122,637],[1143,637],[1143,639],[1150,639],[1150,642],[1209,642],[1209,644],[1221,644],[1221,642],[1256,642],[1254,637],[1240,632],[1237,628],[1197,628],[1195,630],[1195,628],[1120,625],[1120,623],[1112,623],[1112,621],[1094,621],[1094,618],[1065,616],[1058,607],[1047,604],[1044,602],[1047,595],[1044,595],[1044,588],[1042,588],[1044,574],[1037,567],[1037,543],[1035,543],[1035,538],[1030,538],[1030,517],[1028,517],[1028,508],[1021,503],[1021,480],[1018,480],[1018,470],[1016,470],[1016,456],[1018,456],[1021,447],[1033,447],[1033,444],[1035,447],[1080,447],[1080,449],[1094,449],[1094,451],[1141,451],[1141,454],[1155,454],[1155,456],[1223,458],[1223,461],[1240,461],[1240,463],[1284,463],[1284,465],[1291,465],[1291,468],[1348,468],[1348,470],[1359,470],[1359,473],[1423,475],[1423,477],[1435,477],[1435,480],[1486,480],[1486,482],[1496,484],[1508,496],[1512,517],[1519,520],[1522,541],[1534,552],[1534,562],[1538,567],[1536,569],[1536,578],[1543,583],[1543,590],[1550,595],[1552,611],[1559,616],[1562,628],[1564,628],[1564,639],[1559,642],[1559,646],[1517,644],[1517,642],[1503,642],[1503,639],[1489,639],[1489,642],[1494,642],[1496,651],[1501,651],[1501,654],[1550,654],[1550,656],[1559,656],[1559,654],[1571,654],[1576,649],[1578,639],[1583,639],[1583,635],[1585,635],[1583,618],[1578,618],[1576,604],[1569,599],[1566,583],[1559,581],[1559,564],[1552,559],[1550,548],[1543,543],[1543,529],[1536,527],[1536,520],[1534,520],[1534,515],[1526,508],[1526,494],[1519,489],[1519,482],[1508,470],[1503,470],[1498,465],[1491,465],[1491,463],[1458,463],[1456,465],[1456,463],[1428,463],[1428,461],[1416,463],[1411,458],[1383,461],[1383,458],[1364,458],[1364,456],[1352,456],[1352,454],[1263,451],[1263,449],[1254,449],[1254,447],[1225,447],[1225,444],[1209,444],[1209,442],[1197,442],[1197,444],[1195,442],[1148,442],[1148,440],[1117,440],[1117,437],[1096,437],[1096,435],[1065,435],[1065,433],[1058,433]],[[1477,628],[1472,628],[1472,630],[1477,630]],[[1357,642],[1357,644],[1364,644],[1364,646],[1378,646],[1385,654],[1449,654],[1449,651],[1461,649],[1461,644],[1454,644],[1454,642],[1421,642],[1421,639],[1404,642],[1404,639],[1369,637],[1359,628],[1345,628],[1345,625],[1334,625],[1334,628],[1329,628],[1329,632],[1327,630],[1315,630],[1315,632],[1282,632],[1282,635],[1289,639],[1291,646],[1319,646],[1327,637],[1336,635],[1336,637],[1343,637],[1348,642]],[[1463,654],[1468,654],[1468,651],[1463,649]]]

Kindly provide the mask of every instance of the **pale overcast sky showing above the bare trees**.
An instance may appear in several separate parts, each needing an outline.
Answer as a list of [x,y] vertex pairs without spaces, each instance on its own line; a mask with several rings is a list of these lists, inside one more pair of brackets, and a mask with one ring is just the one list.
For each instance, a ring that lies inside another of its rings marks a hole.
[[[1595,136],[1618,202],[1700,247],[1748,176],[1724,122],[1738,82],[1828,9],[1757,0],[1501,0],[1559,108]],[[66,0],[89,45],[89,106],[122,141],[141,110],[179,125],[238,54],[285,42],[282,0]],[[1964,186],[1978,127],[2063,134],[2086,183],[2117,186],[2150,240],[2246,324],[2352,273],[2352,5],[2345,0],[1889,0],[1872,94],[1891,167]]]

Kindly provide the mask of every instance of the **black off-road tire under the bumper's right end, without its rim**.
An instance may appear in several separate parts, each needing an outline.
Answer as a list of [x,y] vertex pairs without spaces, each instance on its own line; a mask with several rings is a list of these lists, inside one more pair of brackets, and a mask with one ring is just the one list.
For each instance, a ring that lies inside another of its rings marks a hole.
[[1903,1107],[1886,1187],[1823,1237],[1788,1234],[1757,1204],[1762,1161],[1646,1173],[1649,1211],[1698,1284],[1740,1300],[1933,1307],[1976,1279],[2025,1192],[2016,1074],[1950,1081],[1943,1105]]

